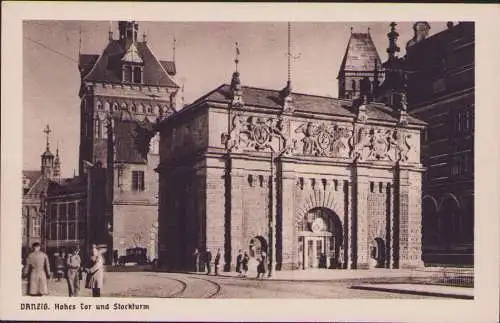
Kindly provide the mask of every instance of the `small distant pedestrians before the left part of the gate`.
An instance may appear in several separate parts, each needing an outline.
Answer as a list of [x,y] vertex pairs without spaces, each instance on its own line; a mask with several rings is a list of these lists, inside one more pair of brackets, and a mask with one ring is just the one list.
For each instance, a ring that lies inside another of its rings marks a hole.
[[[212,273],[212,252],[207,249],[204,253],[200,253],[198,249],[193,252],[194,259],[194,271],[195,272],[206,272],[207,275]],[[260,252],[256,257],[257,260],[257,278],[264,278],[266,273],[267,256],[265,252]],[[238,256],[236,257],[236,272],[238,277],[246,277],[248,273],[248,265],[250,262],[250,256],[248,252],[243,252],[241,249],[238,250]],[[221,251],[217,249],[215,255],[213,266],[215,275],[219,275],[221,265]]]

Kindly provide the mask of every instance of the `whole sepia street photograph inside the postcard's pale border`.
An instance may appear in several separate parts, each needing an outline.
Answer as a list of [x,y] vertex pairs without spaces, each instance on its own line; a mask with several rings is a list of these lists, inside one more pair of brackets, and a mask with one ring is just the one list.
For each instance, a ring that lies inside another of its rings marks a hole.
[[474,22],[24,21],[23,47],[28,295],[473,298]]

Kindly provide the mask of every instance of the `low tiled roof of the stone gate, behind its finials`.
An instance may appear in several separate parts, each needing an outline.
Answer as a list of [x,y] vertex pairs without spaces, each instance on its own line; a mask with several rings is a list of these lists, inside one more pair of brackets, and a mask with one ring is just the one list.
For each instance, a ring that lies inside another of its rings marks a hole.
[[[280,91],[246,86],[242,87],[242,91],[243,101],[248,106],[281,110]],[[355,117],[350,101],[302,93],[292,93],[292,98],[294,109],[298,112]],[[200,102],[219,102],[229,104],[231,102],[230,85],[223,84],[219,86],[215,90],[196,100],[193,105]],[[396,122],[398,120],[396,111],[380,104],[368,104],[367,115],[368,118],[373,120],[389,122]],[[408,120],[412,124],[425,124],[411,116]]]

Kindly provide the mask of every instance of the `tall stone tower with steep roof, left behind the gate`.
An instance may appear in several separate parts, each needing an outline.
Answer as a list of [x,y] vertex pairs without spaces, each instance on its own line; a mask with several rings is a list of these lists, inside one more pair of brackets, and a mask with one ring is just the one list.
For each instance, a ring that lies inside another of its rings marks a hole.
[[94,179],[89,190],[105,187],[89,197],[94,242],[118,255],[145,247],[156,258],[159,137],[153,129],[175,111],[179,86],[174,62],[158,60],[146,34],[139,41],[136,22],[120,21],[118,28],[118,39],[110,31],[100,55],[80,55],[80,176],[87,167]]

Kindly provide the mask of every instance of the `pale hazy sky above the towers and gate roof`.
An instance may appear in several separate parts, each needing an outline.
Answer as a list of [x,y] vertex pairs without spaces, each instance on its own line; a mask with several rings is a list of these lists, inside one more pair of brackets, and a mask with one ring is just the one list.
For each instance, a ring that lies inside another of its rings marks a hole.
[[[243,85],[281,89],[287,80],[287,23],[138,22],[158,59],[172,60],[176,39],[176,80],[184,84],[185,103],[222,83],[234,71],[235,42]],[[387,59],[390,22],[292,23],[294,92],[336,97],[337,73],[353,32],[367,32],[382,61]],[[430,35],[446,22],[430,22]],[[398,22],[398,45],[404,55],[413,37],[413,22]],[[100,54],[108,31],[118,37],[118,23],[109,21],[24,21],[23,23],[23,169],[40,168],[46,124],[51,150],[59,147],[62,176],[78,169],[80,99],[78,53]]]

